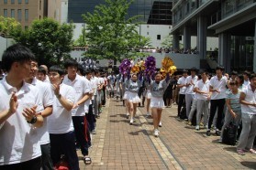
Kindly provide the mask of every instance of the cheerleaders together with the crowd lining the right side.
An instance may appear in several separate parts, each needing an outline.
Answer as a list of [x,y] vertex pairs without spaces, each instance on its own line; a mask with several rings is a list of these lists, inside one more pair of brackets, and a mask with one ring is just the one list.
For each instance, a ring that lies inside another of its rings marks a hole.
[[206,136],[214,132],[220,136],[219,143],[228,138],[224,131],[232,122],[236,128],[238,154],[246,151],[256,154],[252,148],[256,135],[256,75],[249,71],[240,74],[232,71],[229,78],[224,70],[217,67],[216,73],[209,74],[206,70],[198,73],[195,68],[184,69],[182,76],[167,74],[164,80],[160,72],[153,76],[145,73],[122,75],[112,83],[113,86],[117,81],[121,84],[122,92],[117,90],[117,96],[123,96],[121,99],[124,99],[131,125],[135,122],[137,107],[144,107],[146,101],[146,116],[152,116],[153,134],[158,137],[161,111],[175,103],[178,119],[185,120],[188,126],[195,125],[196,131],[206,129]]

